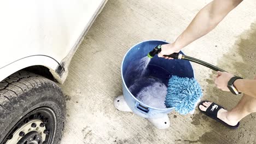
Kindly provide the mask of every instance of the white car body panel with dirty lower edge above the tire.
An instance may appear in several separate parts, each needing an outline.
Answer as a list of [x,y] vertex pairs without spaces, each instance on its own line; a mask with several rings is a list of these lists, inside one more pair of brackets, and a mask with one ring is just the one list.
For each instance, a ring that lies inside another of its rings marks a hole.
[[[43,65],[58,82],[104,0],[4,1],[0,5],[0,81],[16,71]],[[62,67],[61,63],[65,64]]]

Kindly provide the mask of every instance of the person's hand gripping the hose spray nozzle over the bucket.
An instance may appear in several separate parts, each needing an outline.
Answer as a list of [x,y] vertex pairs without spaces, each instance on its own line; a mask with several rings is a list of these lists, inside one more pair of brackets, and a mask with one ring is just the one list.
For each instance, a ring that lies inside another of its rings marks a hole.
[[171,57],[165,57],[164,55],[171,55],[174,52],[179,52],[181,49],[178,49],[174,46],[174,43],[172,44],[165,44],[161,46],[161,52],[158,53],[158,57],[164,57],[165,59],[173,59]]

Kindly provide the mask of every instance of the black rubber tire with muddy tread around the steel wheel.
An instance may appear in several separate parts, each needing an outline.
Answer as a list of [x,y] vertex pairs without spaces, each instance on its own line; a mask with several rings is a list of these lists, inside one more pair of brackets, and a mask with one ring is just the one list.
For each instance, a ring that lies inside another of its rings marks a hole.
[[54,114],[55,134],[51,143],[60,143],[65,121],[65,99],[61,88],[45,77],[18,71],[0,82],[0,143],[22,117],[39,107],[48,107]]

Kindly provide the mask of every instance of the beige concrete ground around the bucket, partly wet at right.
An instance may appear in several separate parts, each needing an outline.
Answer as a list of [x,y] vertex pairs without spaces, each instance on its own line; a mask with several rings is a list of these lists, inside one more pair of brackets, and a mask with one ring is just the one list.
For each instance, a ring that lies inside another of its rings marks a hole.
[[[256,143],[255,114],[230,130],[202,115],[171,112],[171,127],[159,130],[146,119],[117,111],[122,93],[120,65],[126,51],[149,39],[172,42],[208,0],[109,0],[75,53],[62,85],[67,100],[65,143]],[[183,50],[252,79],[256,71],[256,1],[242,2],[212,32]],[[234,107],[240,96],[222,92],[212,70],[193,64],[203,98]]]

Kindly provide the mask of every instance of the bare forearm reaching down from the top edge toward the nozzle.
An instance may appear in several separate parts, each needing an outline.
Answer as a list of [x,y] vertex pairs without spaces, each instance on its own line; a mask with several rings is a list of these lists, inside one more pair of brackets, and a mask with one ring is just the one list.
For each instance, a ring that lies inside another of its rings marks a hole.
[[207,4],[196,14],[193,21],[191,21],[185,31],[176,39],[174,42],[175,47],[182,49],[212,31],[239,3],[241,3],[241,0],[214,0]]

